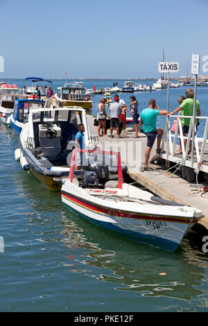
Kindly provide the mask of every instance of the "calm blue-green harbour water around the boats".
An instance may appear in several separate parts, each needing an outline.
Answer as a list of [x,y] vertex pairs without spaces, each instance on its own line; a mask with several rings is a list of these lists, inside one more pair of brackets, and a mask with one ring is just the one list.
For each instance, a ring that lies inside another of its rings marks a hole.
[[[171,89],[171,110],[184,90]],[[204,115],[207,92],[198,88]],[[136,97],[140,109],[152,97],[166,108],[166,90]],[[169,253],[83,221],[62,207],[60,193],[22,171],[15,131],[0,123],[0,137],[0,311],[207,311],[208,255],[188,239]]]

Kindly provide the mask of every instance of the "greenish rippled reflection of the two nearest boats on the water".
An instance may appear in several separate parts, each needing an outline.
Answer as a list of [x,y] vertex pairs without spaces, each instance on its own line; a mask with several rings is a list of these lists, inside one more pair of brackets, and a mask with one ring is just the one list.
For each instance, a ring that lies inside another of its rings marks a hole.
[[192,249],[188,240],[173,253],[135,243],[67,211],[60,193],[49,191],[32,175],[17,171],[12,178],[30,207],[28,228],[38,239],[53,243],[59,270],[94,277],[95,282],[112,284],[115,291],[189,300],[206,307],[207,256]]

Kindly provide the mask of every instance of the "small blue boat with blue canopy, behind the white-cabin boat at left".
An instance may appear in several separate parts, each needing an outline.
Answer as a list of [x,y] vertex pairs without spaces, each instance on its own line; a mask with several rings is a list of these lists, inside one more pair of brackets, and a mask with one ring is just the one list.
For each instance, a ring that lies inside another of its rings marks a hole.
[[33,108],[44,108],[45,101],[26,98],[21,100],[15,100],[14,111],[10,116],[10,124],[17,131],[21,132],[22,126],[26,122],[28,113]]

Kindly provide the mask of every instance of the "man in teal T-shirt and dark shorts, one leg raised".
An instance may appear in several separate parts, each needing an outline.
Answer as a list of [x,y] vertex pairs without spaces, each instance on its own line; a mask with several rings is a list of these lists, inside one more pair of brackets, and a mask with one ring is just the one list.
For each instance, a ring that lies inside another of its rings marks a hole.
[[156,153],[160,153],[160,143],[162,140],[163,129],[156,128],[157,116],[166,115],[168,112],[166,110],[160,110],[159,106],[156,105],[154,98],[150,99],[149,107],[141,111],[140,124],[143,123],[143,130],[145,135],[148,137],[147,146],[145,151],[144,166],[142,166],[141,171],[150,171],[152,168],[148,166],[150,152],[152,151],[153,144],[155,143],[155,138],[157,136],[157,149]]

